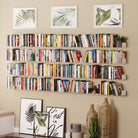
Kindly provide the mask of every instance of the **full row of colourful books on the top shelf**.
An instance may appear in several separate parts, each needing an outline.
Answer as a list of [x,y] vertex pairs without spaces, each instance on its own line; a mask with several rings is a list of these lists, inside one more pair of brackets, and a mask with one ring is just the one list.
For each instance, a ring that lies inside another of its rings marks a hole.
[[113,34],[12,34],[8,46],[28,47],[116,47]]

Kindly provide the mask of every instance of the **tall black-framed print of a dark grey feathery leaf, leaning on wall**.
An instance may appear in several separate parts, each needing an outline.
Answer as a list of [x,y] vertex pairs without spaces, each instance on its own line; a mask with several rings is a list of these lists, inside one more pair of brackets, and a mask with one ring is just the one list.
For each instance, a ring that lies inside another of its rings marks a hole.
[[21,99],[20,133],[33,134],[35,111],[42,111],[42,99]]

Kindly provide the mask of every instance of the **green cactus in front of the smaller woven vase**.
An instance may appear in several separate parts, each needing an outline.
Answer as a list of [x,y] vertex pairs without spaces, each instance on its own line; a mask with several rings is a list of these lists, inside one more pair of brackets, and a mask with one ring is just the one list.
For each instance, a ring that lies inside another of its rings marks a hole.
[[91,119],[91,126],[89,129],[90,138],[98,138],[98,118],[95,116],[95,118]]

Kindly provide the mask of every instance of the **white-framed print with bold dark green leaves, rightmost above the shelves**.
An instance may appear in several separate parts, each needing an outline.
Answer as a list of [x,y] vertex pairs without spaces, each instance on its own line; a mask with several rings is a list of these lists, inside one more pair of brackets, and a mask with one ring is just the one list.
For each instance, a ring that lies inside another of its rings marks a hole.
[[122,27],[122,4],[95,5],[94,27]]

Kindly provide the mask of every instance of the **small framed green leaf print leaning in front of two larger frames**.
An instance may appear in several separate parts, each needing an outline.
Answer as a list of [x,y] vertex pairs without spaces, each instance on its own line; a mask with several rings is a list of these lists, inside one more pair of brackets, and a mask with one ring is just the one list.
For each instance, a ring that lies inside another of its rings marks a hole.
[[47,112],[35,112],[34,135],[48,136],[48,117]]

